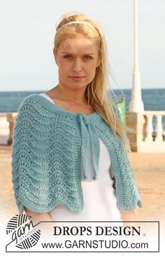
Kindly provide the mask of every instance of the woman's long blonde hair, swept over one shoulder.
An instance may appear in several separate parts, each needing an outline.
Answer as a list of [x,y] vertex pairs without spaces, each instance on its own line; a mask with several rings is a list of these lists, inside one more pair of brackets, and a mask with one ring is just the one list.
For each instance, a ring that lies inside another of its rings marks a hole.
[[[74,22],[74,21],[80,21]],[[69,25],[67,23],[71,22]],[[85,24],[84,22],[87,22]],[[89,26],[92,25],[92,26]],[[89,18],[87,15],[82,13],[66,13],[62,16],[59,25],[57,25],[55,40],[54,40],[54,53],[57,53],[60,43],[66,39],[72,39],[76,37],[77,34],[82,34],[83,36],[90,39],[93,45],[99,50],[99,56],[101,58],[100,65],[96,67],[96,74],[91,83],[87,85],[85,90],[85,96],[87,98],[88,104],[92,105],[96,112],[98,112],[103,119],[108,123],[113,133],[120,137],[123,142],[124,148],[127,151],[131,151],[129,139],[127,137],[127,132],[130,130],[127,126],[124,126],[122,121],[114,110],[115,102],[110,99],[107,93],[107,86],[110,94],[113,90],[110,89],[108,83],[108,75],[110,73],[107,57],[107,46],[106,39],[101,31],[99,24]]]

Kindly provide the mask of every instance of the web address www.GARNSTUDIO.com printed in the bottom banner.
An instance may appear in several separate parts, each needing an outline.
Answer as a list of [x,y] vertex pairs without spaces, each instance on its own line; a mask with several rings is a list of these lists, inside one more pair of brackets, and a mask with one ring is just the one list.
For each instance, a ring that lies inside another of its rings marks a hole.
[[42,247],[46,249],[98,249],[98,248],[105,248],[105,249],[129,249],[129,248],[136,248],[136,249],[146,249],[148,248],[148,243],[129,243],[126,240],[123,241],[116,241],[116,240],[66,240],[64,243],[42,243]]

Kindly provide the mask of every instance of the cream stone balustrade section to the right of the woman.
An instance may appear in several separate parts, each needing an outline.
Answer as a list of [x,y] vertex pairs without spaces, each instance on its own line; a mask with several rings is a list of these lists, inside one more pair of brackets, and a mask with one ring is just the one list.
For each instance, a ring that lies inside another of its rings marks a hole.
[[165,152],[163,116],[165,111],[127,112],[127,126],[136,129],[136,133],[128,135],[131,151]]

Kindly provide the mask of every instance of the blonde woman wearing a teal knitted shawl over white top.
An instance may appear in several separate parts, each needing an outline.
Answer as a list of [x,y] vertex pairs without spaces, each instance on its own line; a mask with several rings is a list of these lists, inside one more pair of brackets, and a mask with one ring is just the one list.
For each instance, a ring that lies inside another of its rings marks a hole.
[[127,128],[106,94],[108,60],[99,25],[66,13],[53,53],[58,85],[24,99],[15,123],[19,212],[36,221],[131,220],[142,202],[127,158]]

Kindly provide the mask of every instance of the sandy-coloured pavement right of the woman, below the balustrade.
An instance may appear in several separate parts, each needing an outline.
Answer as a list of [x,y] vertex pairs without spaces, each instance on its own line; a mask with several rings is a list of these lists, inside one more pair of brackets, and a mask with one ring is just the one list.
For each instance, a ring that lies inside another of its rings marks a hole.
[[136,215],[139,220],[165,222],[165,153],[131,152],[129,160],[143,199]]

